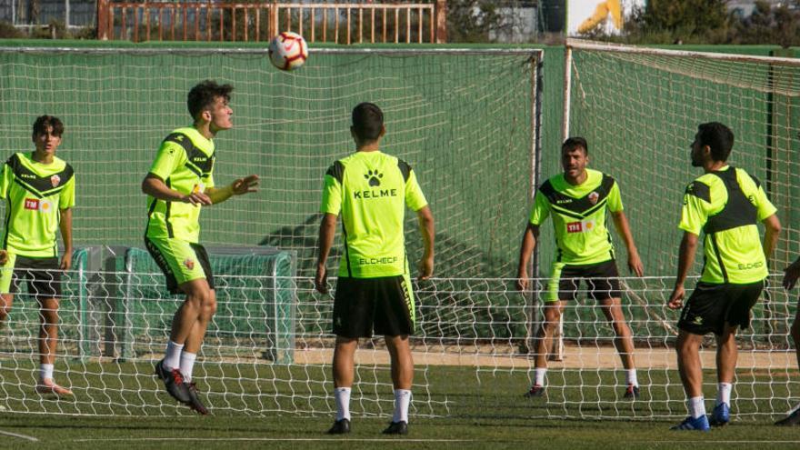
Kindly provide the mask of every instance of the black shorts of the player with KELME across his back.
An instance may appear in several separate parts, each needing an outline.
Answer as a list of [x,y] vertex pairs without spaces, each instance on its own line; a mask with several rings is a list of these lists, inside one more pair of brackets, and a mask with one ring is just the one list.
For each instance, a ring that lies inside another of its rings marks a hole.
[[414,325],[414,294],[407,275],[339,277],[334,297],[335,335],[413,335]]

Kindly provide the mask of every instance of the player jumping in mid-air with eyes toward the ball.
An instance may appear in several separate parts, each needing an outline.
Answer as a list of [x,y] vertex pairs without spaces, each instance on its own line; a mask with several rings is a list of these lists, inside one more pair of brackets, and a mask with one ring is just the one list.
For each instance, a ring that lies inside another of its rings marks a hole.
[[214,183],[213,139],[234,125],[234,111],[228,104],[233,89],[206,80],[189,91],[186,104],[193,125],[165,137],[142,182],[147,195],[147,251],[164,272],[167,289],[186,295],[175,312],[166,355],[155,365],[155,375],[164,381],[169,395],[201,415],[208,410],[192,382],[192,371],[216,311],[216,296],[211,264],[199,244],[200,211],[232,195],[255,192],[258,185],[256,175],[222,188]]

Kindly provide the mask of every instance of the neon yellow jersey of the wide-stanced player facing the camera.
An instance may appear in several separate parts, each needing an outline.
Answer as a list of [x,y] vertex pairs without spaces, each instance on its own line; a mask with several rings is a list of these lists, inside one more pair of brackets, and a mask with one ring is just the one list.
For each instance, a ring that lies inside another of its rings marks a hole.
[[619,187],[609,175],[586,170],[582,185],[570,185],[564,174],[555,175],[536,191],[530,222],[542,225],[553,217],[555,262],[590,265],[614,258],[605,211],[622,211]]

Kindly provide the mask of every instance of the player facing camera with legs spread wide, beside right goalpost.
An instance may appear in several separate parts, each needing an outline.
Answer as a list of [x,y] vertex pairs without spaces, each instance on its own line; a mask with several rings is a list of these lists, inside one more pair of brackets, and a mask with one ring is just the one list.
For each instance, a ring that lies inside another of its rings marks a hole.
[[644,275],[644,268],[623,212],[619,185],[610,175],[587,169],[588,164],[586,140],[583,137],[567,139],[561,147],[564,174],[555,175],[539,186],[530,221],[525,227],[517,269],[520,290],[528,286],[528,262],[539,238],[539,226],[547,217],[553,218],[556,239],[556,255],[544,306],[545,321],[536,332],[535,381],[525,393],[529,398],[545,395],[547,349],[566,302],[575,301],[581,280],[585,281],[588,294],[600,305],[614,329],[614,345],[625,366],[624,397],[639,396],[634,340],[622,311],[614,246],[605,228],[606,211],[611,212],[616,231],[625,242],[628,268],[637,276]]

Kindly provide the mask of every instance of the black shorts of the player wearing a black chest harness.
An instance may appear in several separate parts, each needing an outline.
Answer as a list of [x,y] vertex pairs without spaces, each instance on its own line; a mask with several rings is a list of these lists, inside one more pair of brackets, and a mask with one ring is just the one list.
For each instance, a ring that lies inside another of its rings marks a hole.
[[750,310],[764,290],[764,281],[749,285],[699,282],[681,311],[678,328],[694,335],[722,335],[725,324],[750,326]]

